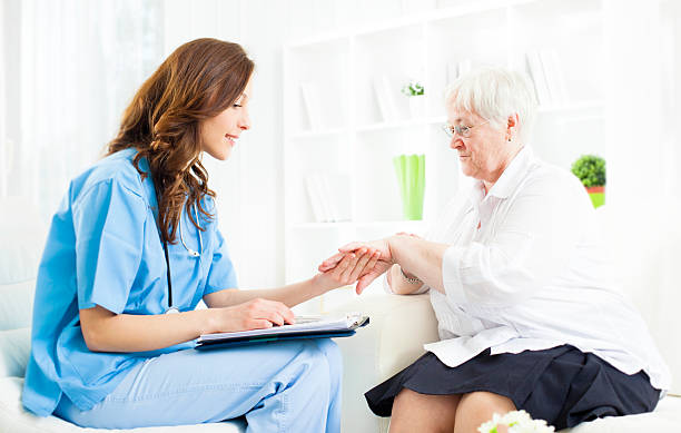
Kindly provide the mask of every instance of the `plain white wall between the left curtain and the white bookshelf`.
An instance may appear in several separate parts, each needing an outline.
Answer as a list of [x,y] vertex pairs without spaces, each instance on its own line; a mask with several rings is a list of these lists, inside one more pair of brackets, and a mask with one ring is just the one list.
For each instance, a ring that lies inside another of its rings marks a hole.
[[240,43],[256,62],[251,130],[243,135],[230,160],[205,159],[209,185],[218,194],[220,229],[241,287],[284,283],[283,43],[397,17],[405,8],[401,0],[164,3],[165,56],[189,40],[213,37]]

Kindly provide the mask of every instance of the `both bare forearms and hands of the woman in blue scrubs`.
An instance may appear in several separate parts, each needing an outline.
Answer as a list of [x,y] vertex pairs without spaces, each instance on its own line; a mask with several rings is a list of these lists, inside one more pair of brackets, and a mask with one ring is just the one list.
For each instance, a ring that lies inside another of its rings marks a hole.
[[[92,352],[146,352],[184,343],[201,334],[267,328],[294,322],[288,306],[357,281],[378,253],[361,249],[335,270],[303,283],[266,291],[225,289],[206,295],[208,309],[178,314],[115,314],[99,305],[80,311],[80,327]],[[287,306],[288,305],[288,306]]]

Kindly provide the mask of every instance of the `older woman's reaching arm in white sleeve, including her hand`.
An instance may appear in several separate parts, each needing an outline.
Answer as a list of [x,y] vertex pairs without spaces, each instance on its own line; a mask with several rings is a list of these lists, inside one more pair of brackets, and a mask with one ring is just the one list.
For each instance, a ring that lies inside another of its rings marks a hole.
[[[450,246],[392,236],[339,250],[347,254],[362,246],[381,250],[384,265],[363,277],[363,287],[398,264],[457,304],[503,307],[522,302],[564,269],[585,227],[593,223],[593,208],[581,186],[565,185],[573,179],[540,180],[525,185],[494,228],[494,237],[484,244]],[[323,266],[333,268],[337,258],[327,262]]]

